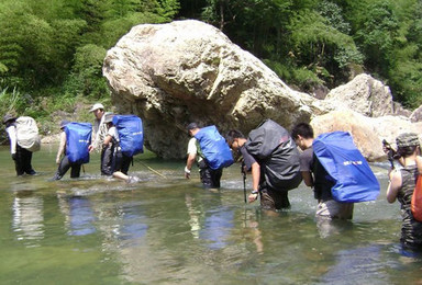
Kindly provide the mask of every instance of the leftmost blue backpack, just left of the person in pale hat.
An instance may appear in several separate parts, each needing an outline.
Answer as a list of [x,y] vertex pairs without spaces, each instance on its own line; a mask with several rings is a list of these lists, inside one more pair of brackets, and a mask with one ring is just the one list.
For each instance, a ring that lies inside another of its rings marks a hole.
[[71,163],[88,163],[92,125],[90,123],[68,123],[65,126],[66,156]]

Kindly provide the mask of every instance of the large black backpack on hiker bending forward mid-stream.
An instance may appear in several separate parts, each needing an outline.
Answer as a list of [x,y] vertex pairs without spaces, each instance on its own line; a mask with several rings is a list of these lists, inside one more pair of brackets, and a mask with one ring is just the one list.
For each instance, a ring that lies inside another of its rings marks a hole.
[[299,150],[286,128],[268,118],[249,133],[245,146],[259,163],[267,185],[284,191],[299,186]]

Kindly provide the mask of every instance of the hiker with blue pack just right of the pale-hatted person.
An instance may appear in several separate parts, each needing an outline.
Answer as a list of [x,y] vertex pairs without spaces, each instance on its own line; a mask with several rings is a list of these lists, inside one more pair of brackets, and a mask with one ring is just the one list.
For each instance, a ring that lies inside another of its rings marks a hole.
[[111,168],[108,175],[137,182],[135,176],[129,176],[127,171],[133,156],[144,152],[144,132],[142,119],[135,115],[107,114],[104,123],[108,127],[103,145],[111,146]]

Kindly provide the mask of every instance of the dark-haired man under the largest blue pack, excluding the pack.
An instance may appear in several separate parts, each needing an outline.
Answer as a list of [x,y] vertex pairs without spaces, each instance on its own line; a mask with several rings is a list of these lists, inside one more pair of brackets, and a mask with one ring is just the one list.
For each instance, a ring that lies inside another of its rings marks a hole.
[[300,153],[300,171],[307,186],[313,189],[314,197],[318,201],[316,217],[352,219],[353,203],[340,203],[331,194],[331,189],[335,182],[329,179],[330,175],[319,163],[314,156],[312,142],[314,140],[313,129],[307,123],[296,125],[291,132]]

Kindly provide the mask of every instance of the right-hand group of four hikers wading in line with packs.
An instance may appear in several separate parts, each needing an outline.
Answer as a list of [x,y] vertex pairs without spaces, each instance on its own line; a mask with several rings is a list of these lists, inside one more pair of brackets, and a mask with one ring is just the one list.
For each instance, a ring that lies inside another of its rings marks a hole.
[[[219,138],[210,127],[200,128],[196,123],[189,124],[187,130],[192,138],[188,145],[185,176],[189,179],[197,159],[203,186],[220,187],[222,169],[233,160],[227,159],[224,147],[209,149],[210,139],[204,134],[211,133],[216,137],[214,140],[225,141],[242,158],[242,173],[252,174],[252,191],[247,198],[245,194],[245,202],[252,203],[259,197],[263,209],[289,208],[288,191],[303,181],[313,190],[318,201],[318,219],[352,219],[354,204],[375,201],[380,191],[369,164],[345,132],[322,134],[315,138],[308,123],[297,124],[289,134],[271,119],[266,119],[247,137],[237,129],[231,129],[224,138]],[[414,133],[404,133],[396,138],[396,145],[397,150],[389,145],[384,147],[390,155],[389,159],[396,159],[401,166],[396,168],[391,163],[387,201],[393,203],[398,200],[401,204],[400,241],[403,249],[421,252],[422,218],[412,209],[413,192],[419,173],[422,173],[419,137]],[[208,152],[211,157],[207,156]],[[215,152],[220,156],[213,157]],[[422,212],[419,215],[422,216]]]

